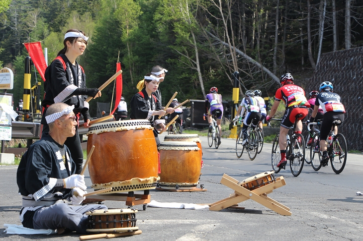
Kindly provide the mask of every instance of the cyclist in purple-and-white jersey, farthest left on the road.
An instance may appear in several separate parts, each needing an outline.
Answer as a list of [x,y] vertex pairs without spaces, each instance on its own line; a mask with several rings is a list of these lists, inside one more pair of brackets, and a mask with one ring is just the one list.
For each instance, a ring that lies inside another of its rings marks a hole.
[[218,94],[218,89],[216,87],[212,87],[209,90],[210,94],[207,94],[205,99],[205,108],[208,113],[208,123],[209,123],[209,132],[212,132],[212,115],[218,112],[217,114],[217,125],[219,129],[218,136],[218,145],[221,144],[221,120],[223,118],[223,105],[222,105],[222,95]]

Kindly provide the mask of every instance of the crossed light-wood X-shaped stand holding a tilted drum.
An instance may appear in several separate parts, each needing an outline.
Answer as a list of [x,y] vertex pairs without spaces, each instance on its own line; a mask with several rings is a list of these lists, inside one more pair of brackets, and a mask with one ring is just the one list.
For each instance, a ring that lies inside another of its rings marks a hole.
[[267,196],[267,194],[271,193],[273,189],[286,185],[283,177],[278,177],[276,178],[275,182],[261,186],[252,191],[239,185],[238,180],[231,178],[226,174],[223,175],[221,183],[225,186],[232,188],[233,190],[235,190],[235,192],[227,198],[210,204],[209,210],[219,211],[240,202],[246,201],[248,199],[252,199],[264,205],[265,207],[270,208],[271,210],[275,211],[280,215],[291,215],[290,209],[288,207],[282,205],[279,202],[276,202],[275,200]]

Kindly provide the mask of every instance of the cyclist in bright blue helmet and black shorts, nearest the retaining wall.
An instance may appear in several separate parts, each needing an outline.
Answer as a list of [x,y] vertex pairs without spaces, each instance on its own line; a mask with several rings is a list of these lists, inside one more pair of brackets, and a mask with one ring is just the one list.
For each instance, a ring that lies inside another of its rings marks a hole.
[[[341,97],[333,93],[333,84],[329,81],[325,81],[320,84],[320,94],[316,97],[314,111],[311,114],[308,122],[313,122],[317,116],[319,106],[323,108],[324,118],[320,127],[320,147],[323,151],[323,158],[320,161],[322,166],[328,165],[329,155],[326,139],[333,126],[333,121],[340,120],[340,123],[344,121],[345,108],[341,103]],[[338,132],[338,128],[334,130],[335,134]]]

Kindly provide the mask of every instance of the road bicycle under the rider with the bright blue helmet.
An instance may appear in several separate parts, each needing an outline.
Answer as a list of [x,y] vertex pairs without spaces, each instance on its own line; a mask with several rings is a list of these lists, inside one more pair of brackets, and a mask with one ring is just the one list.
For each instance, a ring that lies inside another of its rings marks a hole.
[[[340,120],[333,121],[333,127],[330,131],[327,139],[328,144],[328,155],[332,169],[336,174],[343,172],[343,169],[347,162],[347,141],[342,133],[334,134],[335,126],[340,124]],[[310,125],[317,124],[317,122],[311,122],[308,124],[308,129]],[[313,136],[313,142],[310,146],[310,160],[311,166],[315,171],[319,171],[322,167],[320,163],[322,159],[322,151],[320,150],[320,131],[315,133]]]

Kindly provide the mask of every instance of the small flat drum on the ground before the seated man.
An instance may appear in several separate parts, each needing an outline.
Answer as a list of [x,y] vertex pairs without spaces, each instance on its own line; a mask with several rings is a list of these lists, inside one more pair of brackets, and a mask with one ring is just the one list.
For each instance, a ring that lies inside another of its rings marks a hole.
[[123,233],[135,231],[137,209],[108,209],[87,212],[87,232]]

